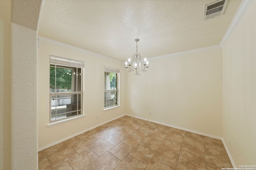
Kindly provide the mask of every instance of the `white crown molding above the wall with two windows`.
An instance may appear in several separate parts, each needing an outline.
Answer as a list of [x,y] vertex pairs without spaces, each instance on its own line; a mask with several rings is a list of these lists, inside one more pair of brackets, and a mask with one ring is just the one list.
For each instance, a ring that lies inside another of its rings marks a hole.
[[81,48],[78,48],[78,47],[75,47],[75,46],[72,46],[72,45],[68,45],[68,44],[65,44],[65,43],[62,43],[62,42],[59,42],[59,41],[55,41],[53,39],[49,39],[49,38],[46,38],[46,37],[42,37],[42,36],[39,36],[38,35],[38,39],[39,41],[44,41],[44,42],[49,42],[49,43],[54,43],[56,45],[60,45],[60,46],[63,46],[63,47],[68,47],[70,49],[74,49],[76,51],[81,51],[83,53],[86,53],[86,54],[90,54],[90,55],[96,55],[98,57],[102,57],[102,58],[105,58],[105,59],[110,59],[110,60],[114,60],[114,61],[117,61],[117,62],[120,62],[120,63],[124,63],[124,61],[121,61],[121,60],[118,60],[118,59],[114,59],[114,58],[111,58],[111,57],[108,57],[108,56],[105,56],[105,55],[101,55],[101,54],[98,54],[98,53],[94,53],[92,51],[88,51],[88,50],[85,50],[85,49],[81,49]]

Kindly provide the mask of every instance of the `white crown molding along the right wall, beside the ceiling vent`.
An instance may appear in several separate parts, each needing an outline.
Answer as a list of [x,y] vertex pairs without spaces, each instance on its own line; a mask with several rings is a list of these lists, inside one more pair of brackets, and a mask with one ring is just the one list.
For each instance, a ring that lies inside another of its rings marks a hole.
[[222,41],[220,42],[220,46],[223,47],[225,43],[228,41],[228,38],[246,13],[249,6],[252,4],[253,0],[243,0],[240,7],[238,8],[236,15],[234,16],[232,22],[230,23],[228,30],[226,31],[224,37],[222,38]]

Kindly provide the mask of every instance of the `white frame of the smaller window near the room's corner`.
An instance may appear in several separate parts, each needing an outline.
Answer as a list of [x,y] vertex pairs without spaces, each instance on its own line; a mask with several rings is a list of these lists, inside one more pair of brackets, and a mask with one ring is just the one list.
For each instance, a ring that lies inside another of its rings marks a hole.
[[[106,72],[109,73],[116,73],[116,89],[112,89],[112,90],[106,90]],[[104,110],[108,110],[108,109],[113,109],[116,107],[120,106],[120,69],[119,68],[112,68],[112,67],[108,67],[108,66],[104,66]],[[107,106],[105,107],[105,93],[106,92],[116,92],[116,105],[112,105],[112,106]]]

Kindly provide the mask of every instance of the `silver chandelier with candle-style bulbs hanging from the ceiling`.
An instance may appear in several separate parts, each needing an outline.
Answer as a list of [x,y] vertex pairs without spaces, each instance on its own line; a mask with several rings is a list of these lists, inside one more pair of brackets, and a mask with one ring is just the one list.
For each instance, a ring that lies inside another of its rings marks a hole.
[[[139,71],[146,72],[148,70],[148,61],[145,58],[144,64],[143,64],[144,66],[143,65],[141,66],[141,62],[140,62],[141,57],[140,57],[140,53],[138,53],[138,41],[140,41],[140,39],[136,38],[136,39],[134,39],[134,41],[136,41],[136,53],[134,53],[134,55],[132,56],[132,68],[131,68],[131,59],[130,58],[128,59],[128,63],[127,63],[127,61],[125,62],[125,65],[126,65],[126,70],[128,72],[135,71],[134,74],[136,76],[139,76],[140,75],[140,73],[138,73]],[[138,66],[137,63],[139,63],[140,68],[137,68],[137,66]],[[129,65],[129,68],[128,68],[127,64]]]

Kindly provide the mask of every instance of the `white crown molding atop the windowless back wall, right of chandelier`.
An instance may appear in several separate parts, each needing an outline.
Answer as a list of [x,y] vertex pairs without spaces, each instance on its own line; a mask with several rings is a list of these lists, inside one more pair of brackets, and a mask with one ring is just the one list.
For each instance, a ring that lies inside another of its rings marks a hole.
[[214,45],[214,46],[204,47],[204,48],[200,48],[200,49],[193,49],[193,50],[182,51],[182,52],[178,52],[178,53],[172,53],[172,54],[167,54],[167,55],[160,55],[160,56],[157,56],[157,57],[151,57],[151,58],[148,58],[148,60],[160,59],[160,58],[165,58],[165,57],[173,57],[173,56],[176,56],[176,55],[191,54],[191,53],[196,53],[196,52],[199,52],[199,51],[207,51],[207,50],[219,49],[219,48],[222,48],[222,47],[220,45]]

